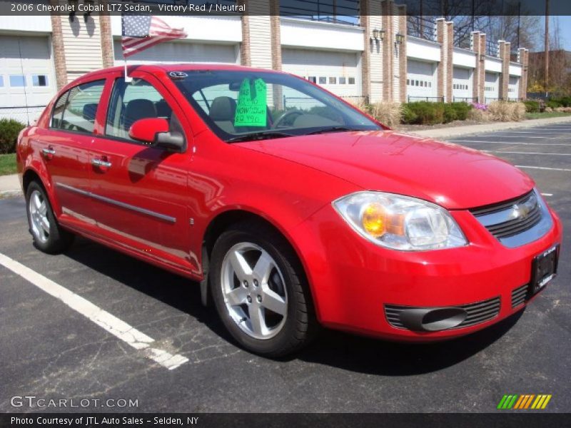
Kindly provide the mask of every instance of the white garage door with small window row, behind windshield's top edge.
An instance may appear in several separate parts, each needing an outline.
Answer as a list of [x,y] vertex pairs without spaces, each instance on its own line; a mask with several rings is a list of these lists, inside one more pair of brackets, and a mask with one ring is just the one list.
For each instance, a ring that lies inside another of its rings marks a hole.
[[[282,68],[338,96],[360,97],[360,53],[283,49]],[[287,94],[284,94],[287,95]]]

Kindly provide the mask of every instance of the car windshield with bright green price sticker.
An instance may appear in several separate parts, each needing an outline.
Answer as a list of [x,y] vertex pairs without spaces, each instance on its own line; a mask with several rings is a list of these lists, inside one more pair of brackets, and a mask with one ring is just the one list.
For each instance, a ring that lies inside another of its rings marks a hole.
[[169,75],[211,130],[228,143],[382,129],[335,96],[288,74],[199,70]]

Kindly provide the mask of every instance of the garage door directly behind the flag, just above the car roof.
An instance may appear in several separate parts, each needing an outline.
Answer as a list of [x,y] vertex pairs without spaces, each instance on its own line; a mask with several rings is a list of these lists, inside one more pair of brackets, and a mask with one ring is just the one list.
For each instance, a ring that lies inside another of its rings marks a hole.
[[[115,63],[123,65],[121,41],[115,41]],[[128,63],[231,63],[239,61],[238,45],[166,42],[128,58]]]

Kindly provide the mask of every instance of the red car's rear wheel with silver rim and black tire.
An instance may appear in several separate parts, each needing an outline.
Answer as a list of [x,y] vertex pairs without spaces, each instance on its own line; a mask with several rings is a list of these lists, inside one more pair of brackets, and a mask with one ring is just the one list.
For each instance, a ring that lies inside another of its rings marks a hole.
[[57,254],[69,248],[74,235],[61,228],[51,209],[44,187],[32,181],[26,190],[26,213],[34,245],[48,254]]

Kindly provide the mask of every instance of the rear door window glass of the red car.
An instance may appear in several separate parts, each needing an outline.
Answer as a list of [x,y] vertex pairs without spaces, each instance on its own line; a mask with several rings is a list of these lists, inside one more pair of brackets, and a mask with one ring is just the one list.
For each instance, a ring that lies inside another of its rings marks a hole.
[[105,81],[94,81],[74,86],[56,102],[51,126],[66,131],[92,133],[97,106]]

